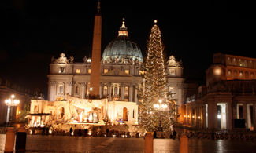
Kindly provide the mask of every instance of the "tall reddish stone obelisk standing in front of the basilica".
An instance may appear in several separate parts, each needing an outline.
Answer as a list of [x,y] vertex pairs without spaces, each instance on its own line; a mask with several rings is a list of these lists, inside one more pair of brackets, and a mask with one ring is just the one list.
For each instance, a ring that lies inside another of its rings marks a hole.
[[99,98],[101,46],[102,46],[102,15],[100,13],[100,2],[98,1],[97,13],[95,14],[95,26],[93,31],[93,39],[92,39],[90,97]]

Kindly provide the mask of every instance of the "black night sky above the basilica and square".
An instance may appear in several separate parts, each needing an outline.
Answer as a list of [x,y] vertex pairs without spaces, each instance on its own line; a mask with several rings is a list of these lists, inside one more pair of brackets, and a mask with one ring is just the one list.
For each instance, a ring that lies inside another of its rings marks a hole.
[[[91,56],[97,0],[0,2],[0,75],[46,93],[51,56]],[[245,1],[102,0],[102,52],[122,18],[143,53],[158,20],[167,56],[183,60],[185,77],[201,77],[222,52],[256,58],[254,5]]]

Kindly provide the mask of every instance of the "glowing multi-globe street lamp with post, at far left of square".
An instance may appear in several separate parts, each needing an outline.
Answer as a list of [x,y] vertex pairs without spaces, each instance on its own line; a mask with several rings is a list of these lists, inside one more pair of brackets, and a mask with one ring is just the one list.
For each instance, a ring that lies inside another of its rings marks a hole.
[[5,103],[8,106],[6,122],[8,123],[7,125],[9,126],[11,126],[11,124],[13,123],[13,107],[20,104],[20,100],[15,100],[14,98],[15,96],[14,94],[12,94],[11,98],[5,100]]

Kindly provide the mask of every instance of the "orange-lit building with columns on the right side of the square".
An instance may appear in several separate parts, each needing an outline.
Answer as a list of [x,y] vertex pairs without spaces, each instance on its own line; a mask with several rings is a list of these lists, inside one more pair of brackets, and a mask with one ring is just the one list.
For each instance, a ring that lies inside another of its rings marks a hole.
[[213,55],[206,85],[186,98],[184,125],[202,129],[250,129],[256,124],[256,59]]

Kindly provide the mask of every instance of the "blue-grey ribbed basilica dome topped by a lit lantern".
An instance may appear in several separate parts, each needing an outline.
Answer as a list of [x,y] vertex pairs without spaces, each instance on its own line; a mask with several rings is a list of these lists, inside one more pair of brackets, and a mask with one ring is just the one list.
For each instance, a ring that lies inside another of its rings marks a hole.
[[117,38],[109,42],[102,54],[102,60],[106,62],[133,60],[143,62],[143,55],[139,46],[128,37],[127,27],[123,24],[118,31]]

